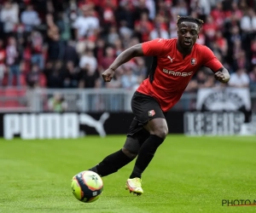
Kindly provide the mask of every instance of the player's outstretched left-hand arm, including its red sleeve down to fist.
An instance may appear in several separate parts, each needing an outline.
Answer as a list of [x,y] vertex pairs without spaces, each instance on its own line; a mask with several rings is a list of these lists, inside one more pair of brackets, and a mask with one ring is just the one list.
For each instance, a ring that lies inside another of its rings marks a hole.
[[115,70],[125,64],[125,62],[138,56],[161,55],[165,47],[165,39],[156,38],[149,42],[138,43],[129,49],[125,49],[109,66],[109,68],[102,73],[102,78],[105,82],[110,82],[113,78]]

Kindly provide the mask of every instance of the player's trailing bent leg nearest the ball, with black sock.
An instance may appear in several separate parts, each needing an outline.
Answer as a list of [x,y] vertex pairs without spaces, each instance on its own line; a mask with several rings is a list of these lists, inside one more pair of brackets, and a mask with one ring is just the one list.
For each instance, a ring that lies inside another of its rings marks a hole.
[[125,145],[122,149],[108,155],[101,163],[90,168],[90,170],[95,171],[100,176],[108,176],[136,158],[143,141],[148,138],[149,133],[142,126],[138,126],[136,120],[132,121],[130,132],[133,134],[127,135]]

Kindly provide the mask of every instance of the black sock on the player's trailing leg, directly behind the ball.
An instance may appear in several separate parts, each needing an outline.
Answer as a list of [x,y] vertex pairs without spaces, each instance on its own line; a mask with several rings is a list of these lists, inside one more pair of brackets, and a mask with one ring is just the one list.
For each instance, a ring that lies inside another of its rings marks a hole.
[[90,168],[90,170],[96,172],[100,176],[108,176],[118,171],[126,164],[129,164],[132,160],[132,158],[129,158],[120,149],[118,152],[108,155],[100,164]]

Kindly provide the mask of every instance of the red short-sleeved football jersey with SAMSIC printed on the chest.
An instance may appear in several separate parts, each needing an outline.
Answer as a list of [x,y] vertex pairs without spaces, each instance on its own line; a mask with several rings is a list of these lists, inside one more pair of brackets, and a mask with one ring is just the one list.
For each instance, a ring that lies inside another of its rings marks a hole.
[[191,53],[183,58],[176,43],[177,38],[156,38],[143,43],[143,54],[156,56],[156,65],[137,91],[154,97],[164,112],[179,101],[189,80],[201,66],[207,66],[213,72],[223,67],[207,46],[195,43]]

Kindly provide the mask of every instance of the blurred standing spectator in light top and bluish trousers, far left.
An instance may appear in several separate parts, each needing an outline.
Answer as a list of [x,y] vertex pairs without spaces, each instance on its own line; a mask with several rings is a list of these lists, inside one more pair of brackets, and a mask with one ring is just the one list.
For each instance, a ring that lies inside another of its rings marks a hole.
[[14,85],[14,79],[16,85],[20,86],[20,54],[17,49],[17,43],[15,37],[9,37],[8,45],[6,47],[6,64],[9,66],[9,79],[8,85]]

